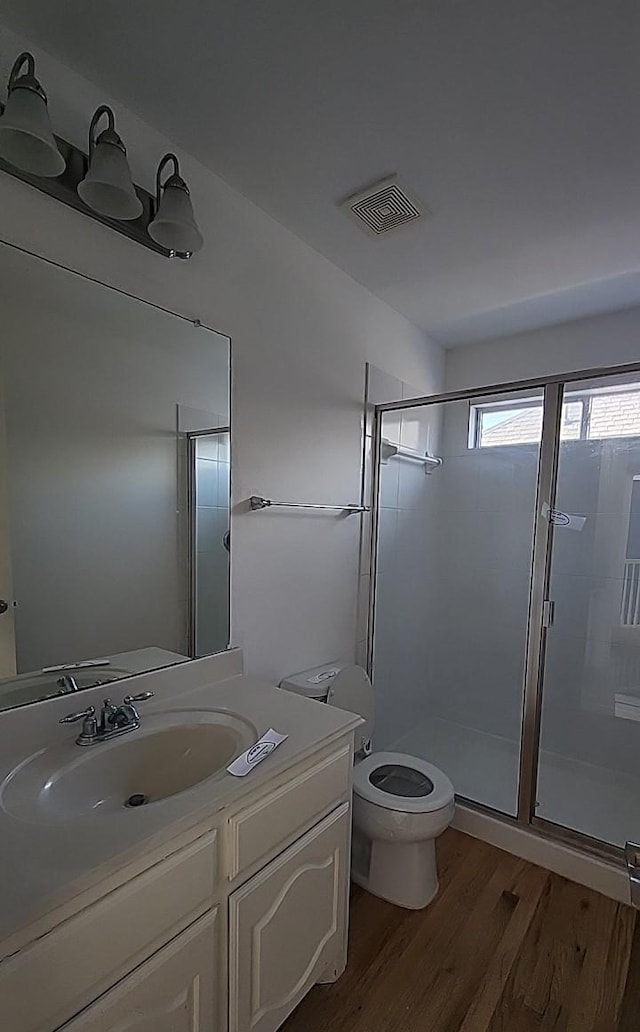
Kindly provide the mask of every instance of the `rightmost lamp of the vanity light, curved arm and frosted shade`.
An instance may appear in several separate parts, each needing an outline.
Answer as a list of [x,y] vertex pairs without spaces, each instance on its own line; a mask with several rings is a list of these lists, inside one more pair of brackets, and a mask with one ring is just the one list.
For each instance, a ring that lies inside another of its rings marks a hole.
[[[168,164],[171,174],[162,182]],[[180,174],[180,164],[174,154],[165,154],[156,172],[156,216],[149,226],[149,235],[161,247],[189,258],[204,243],[193,215],[189,187]]]

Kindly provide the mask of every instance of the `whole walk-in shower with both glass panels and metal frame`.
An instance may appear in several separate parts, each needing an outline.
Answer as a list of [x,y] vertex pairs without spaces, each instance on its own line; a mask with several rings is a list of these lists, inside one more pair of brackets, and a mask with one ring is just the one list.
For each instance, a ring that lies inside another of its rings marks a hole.
[[376,748],[637,841],[640,366],[379,406],[376,455]]

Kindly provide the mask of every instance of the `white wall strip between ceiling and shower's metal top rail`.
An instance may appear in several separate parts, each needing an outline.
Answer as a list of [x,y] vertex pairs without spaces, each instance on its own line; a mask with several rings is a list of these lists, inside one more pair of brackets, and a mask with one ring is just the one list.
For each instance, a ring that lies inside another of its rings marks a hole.
[[640,361],[640,308],[447,351],[446,389]]

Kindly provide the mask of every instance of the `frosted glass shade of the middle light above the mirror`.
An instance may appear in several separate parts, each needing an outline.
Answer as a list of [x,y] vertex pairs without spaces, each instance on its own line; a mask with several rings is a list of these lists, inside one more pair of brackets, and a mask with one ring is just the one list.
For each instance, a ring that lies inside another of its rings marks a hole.
[[116,143],[98,141],[77,192],[88,207],[109,219],[137,219],[142,202],[133,189],[127,155]]

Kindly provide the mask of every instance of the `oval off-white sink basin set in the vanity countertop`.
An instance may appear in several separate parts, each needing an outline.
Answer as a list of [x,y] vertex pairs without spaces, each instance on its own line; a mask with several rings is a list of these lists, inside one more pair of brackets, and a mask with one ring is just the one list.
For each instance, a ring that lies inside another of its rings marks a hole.
[[142,724],[95,745],[69,741],[25,760],[0,785],[0,805],[23,820],[77,820],[162,803],[221,777],[258,737],[242,717],[215,711],[142,715]]

